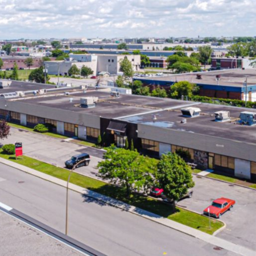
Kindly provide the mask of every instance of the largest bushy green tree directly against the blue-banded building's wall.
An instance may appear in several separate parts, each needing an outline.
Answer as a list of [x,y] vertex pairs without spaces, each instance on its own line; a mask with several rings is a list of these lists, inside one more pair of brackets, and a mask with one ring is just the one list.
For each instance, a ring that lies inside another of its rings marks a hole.
[[191,97],[193,93],[198,92],[198,87],[188,81],[176,82],[171,85],[169,97],[180,99],[181,96]]

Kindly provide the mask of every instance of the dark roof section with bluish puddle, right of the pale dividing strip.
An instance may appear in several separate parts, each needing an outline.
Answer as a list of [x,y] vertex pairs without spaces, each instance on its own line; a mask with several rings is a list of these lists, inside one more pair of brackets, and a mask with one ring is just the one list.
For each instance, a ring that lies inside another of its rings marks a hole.
[[[191,102],[191,104],[192,103],[193,102]],[[256,125],[247,126],[237,123],[237,121],[240,120],[239,116],[241,112],[247,111],[256,114],[255,109],[200,103],[191,106],[201,109],[199,117],[183,117],[181,108],[177,108],[174,110],[159,111],[154,114],[135,115],[133,117],[122,118],[122,120],[166,129],[174,129],[177,131],[187,131],[189,133],[232,139],[235,141],[256,143]],[[221,110],[230,112],[230,121],[214,121],[214,113]],[[156,119],[153,120],[153,118]],[[187,122],[181,123],[181,120],[184,118]]]

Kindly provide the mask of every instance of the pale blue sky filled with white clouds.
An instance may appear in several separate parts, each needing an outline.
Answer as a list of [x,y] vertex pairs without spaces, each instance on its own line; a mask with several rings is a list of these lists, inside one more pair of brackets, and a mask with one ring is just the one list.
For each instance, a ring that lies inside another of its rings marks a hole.
[[0,39],[255,36],[253,0],[0,0]]

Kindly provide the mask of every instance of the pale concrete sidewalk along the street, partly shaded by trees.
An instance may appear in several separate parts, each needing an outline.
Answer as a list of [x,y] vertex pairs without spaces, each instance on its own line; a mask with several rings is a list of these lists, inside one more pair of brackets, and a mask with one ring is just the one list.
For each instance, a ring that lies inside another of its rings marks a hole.
[[[43,174],[42,172],[33,170],[31,168],[28,168],[26,166],[22,166],[20,164],[11,162],[11,161],[3,159],[3,158],[0,158],[0,162],[3,163],[3,164],[6,164],[7,166],[14,167],[14,168],[16,168],[20,171],[23,171],[23,172],[26,172],[28,174],[34,175],[36,177],[40,177],[41,179],[50,181],[50,182],[55,183],[57,185],[61,185],[62,187],[67,187],[67,181],[57,179],[56,177],[52,177],[52,176],[47,175],[47,174]],[[157,222],[157,223],[162,224],[164,226],[167,226],[169,228],[175,229],[179,232],[188,234],[189,236],[192,236],[192,237],[195,237],[195,238],[200,239],[202,241],[208,242],[208,243],[210,243],[214,246],[218,246],[218,247],[221,247],[223,249],[232,251],[233,253],[237,253],[237,254],[240,254],[240,255],[246,255],[246,256],[247,255],[248,256],[250,256],[250,255],[253,256],[253,255],[256,254],[255,251],[247,249],[246,247],[236,245],[235,243],[225,241],[225,240],[223,240],[221,238],[218,238],[218,237],[210,236],[207,233],[204,233],[204,232],[201,232],[199,230],[190,228],[190,227],[185,226],[183,224],[179,224],[178,222],[169,220],[169,219],[164,218],[162,216],[159,216],[157,214],[147,212],[146,210],[143,210],[143,209],[140,209],[140,208],[137,208],[137,207],[133,207],[132,205],[129,205],[129,204],[123,203],[121,201],[112,199],[111,197],[104,196],[104,195],[101,195],[99,193],[90,191],[89,189],[79,187],[75,184],[70,183],[69,184],[69,189],[72,189],[73,191],[84,194],[86,196],[92,197],[93,199],[100,200],[100,201],[102,201],[106,204],[112,205],[113,207],[117,207],[117,208],[120,208],[122,210],[126,210],[127,212],[130,212],[130,213],[133,213],[133,214],[137,214],[138,216],[141,216],[143,218],[147,218],[148,220]]]

